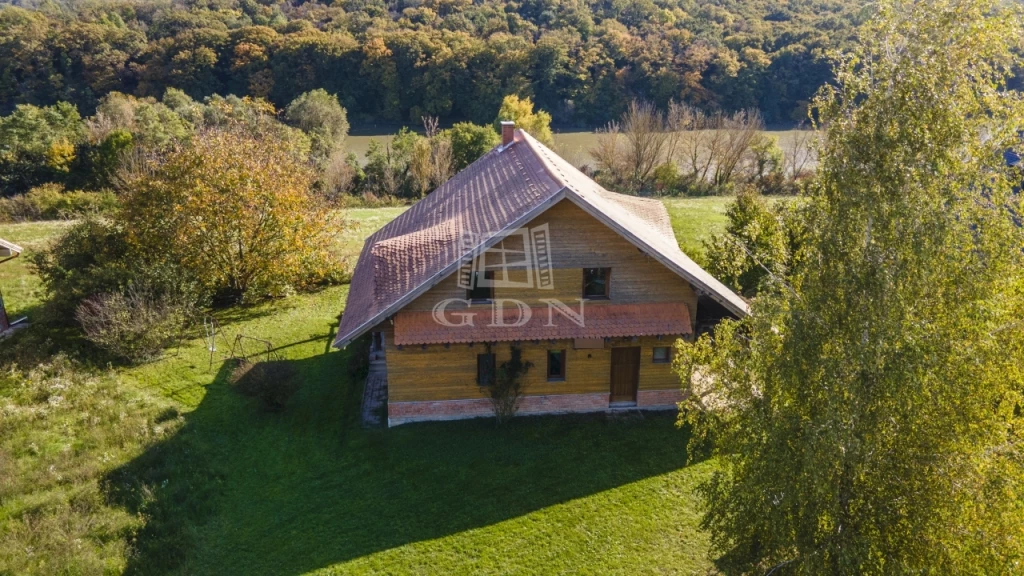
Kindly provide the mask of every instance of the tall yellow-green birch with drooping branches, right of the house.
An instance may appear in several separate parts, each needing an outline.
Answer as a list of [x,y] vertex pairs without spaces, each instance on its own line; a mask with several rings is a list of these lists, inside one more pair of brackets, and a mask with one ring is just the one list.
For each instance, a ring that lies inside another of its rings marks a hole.
[[999,574],[1024,554],[1024,32],[994,0],[887,0],[817,101],[793,290],[680,344],[703,525],[737,572]]

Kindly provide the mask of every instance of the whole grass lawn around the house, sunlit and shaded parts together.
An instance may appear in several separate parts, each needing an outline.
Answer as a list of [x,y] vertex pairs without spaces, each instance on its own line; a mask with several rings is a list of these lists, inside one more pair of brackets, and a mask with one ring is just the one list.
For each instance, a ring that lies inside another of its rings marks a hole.
[[[692,250],[725,199],[669,200]],[[347,212],[338,250],[400,208]],[[0,225],[34,250],[66,225]],[[38,313],[27,260],[0,264],[13,316]],[[705,574],[672,414],[520,418],[365,430],[354,349],[329,342],[347,287],[218,314],[141,367],[51,357],[0,374],[0,574]],[[224,351],[267,339],[301,386],[283,413],[231,389]],[[53,349],[29,328],[0,344]],[[77,349],[72,346],[70,349]],[[8,356],[9,355],[9,356]]]

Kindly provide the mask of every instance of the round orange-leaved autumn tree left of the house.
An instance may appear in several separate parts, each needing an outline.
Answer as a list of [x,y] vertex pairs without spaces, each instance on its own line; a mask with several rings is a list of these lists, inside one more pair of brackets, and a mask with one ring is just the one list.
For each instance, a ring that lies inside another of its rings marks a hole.
[[225,302],[335,278],[328,244],[336,222],[288,142],[213,128],[151,162],[125,177],[117,218],[139,257],[176,262]]

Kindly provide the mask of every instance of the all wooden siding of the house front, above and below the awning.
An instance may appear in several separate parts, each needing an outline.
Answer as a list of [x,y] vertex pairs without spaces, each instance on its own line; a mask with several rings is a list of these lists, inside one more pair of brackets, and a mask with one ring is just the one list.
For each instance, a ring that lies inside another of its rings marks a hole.
[[[696,294],[688,282],[679,278],[659,262],[641,253],[629,241],[609,230],[580,209],[562,201],[530,222],[527,228],[548,224],[551,232],[551,260],[554,289],[542,290],[496,288],[499,298],[517,298],[529,305],[544,306],[542,298],[557,298],[575,305],[583,292],[584,268],[610,268],[611,284],[608,300],[591,300],[591,305],[635,302],[684,302],[690,318],[696,318]],[[512,273],[519,280],[524,271]],[[466,291],[458,286],[455,275],[414,300],[406,310],[430,311],[445,298],[465,298]],[[489,305],[489,304],[479,304]],[[388,371],[389,402],[424,402],[486,398],[486,388],[476,384],[476,356],[484,354],[483,343],[411,345],[397,349],[394,328],[384,322],[378,330],[384,332]],[[611,383],[611,347],[640,346],[641,390],[667,390],[679,387],[679,379],[671,364],[654,364],[655,346],[672,346],[674,337],[640,337],[613,339],[603,348],[574,349],[571,340],[550,343],[520,342],[523,360],[534,363],[526,375],[526,395],[608,394]],[[510,343],[493,344],[500,366],[510,356]],[[547,352],[566,353],[565,380],[547,380]]]

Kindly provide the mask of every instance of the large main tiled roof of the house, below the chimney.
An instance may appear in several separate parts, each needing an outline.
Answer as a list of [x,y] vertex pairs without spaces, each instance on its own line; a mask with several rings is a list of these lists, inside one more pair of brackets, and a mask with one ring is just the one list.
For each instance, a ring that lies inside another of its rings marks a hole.
[[[335,345],[344,346],[500,241],[568,199],[734,314],[746,303],[679,249],[665,205],[610,193],[522,130],[367,239]],[[469,235],[476,246],[465,246]]]

